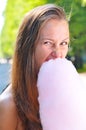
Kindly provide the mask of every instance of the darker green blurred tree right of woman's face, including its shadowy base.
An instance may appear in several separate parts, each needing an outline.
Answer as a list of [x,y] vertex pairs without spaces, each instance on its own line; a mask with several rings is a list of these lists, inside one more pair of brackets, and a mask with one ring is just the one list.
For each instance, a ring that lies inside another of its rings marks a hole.
[[[86,0],[75,0],[72,3],[70,25],[70,51],[69,56],[74,57],[77,69],[85,68],[86,63]],[[86,70],[86,68],[84,69]]]

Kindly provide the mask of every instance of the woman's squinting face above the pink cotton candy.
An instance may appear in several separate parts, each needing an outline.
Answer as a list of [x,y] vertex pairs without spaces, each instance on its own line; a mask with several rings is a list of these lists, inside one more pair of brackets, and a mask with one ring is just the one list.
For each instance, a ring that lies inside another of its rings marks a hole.
[[68,52],[69,27],[65,20],[51,19],[40,30],[35,60],[37,70],[50,59],[65,58]]

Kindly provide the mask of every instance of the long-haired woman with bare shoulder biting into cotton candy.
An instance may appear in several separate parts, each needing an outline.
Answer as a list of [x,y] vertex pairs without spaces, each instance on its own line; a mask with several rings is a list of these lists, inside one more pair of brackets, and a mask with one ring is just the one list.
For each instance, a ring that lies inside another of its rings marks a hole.
[[26,14],[16,39],[12,84],[0,97],[0,130],[42,130],[37,75],[45,61],[64,58],[68,44],[68,21],[61,7],[47,4]]

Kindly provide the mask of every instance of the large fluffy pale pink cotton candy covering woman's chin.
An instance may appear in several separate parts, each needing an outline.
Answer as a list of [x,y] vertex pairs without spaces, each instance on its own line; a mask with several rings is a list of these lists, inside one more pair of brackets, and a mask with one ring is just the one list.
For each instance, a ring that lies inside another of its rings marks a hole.
[[86,88],[72,62],[45,62],[37,86],[43,130],[86,130]]

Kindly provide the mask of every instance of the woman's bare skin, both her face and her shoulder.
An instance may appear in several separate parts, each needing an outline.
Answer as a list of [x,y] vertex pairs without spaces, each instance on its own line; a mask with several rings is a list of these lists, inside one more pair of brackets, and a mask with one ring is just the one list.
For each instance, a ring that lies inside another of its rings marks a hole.
[[[68,52],[69,27],[64,20],[49,20],[40,30],[35,50],[36,68],[50,59],[65,58]],[[17,128],[17,129],[16,129]],[[0,130],[23,130],[9,86],[0,96]]]

